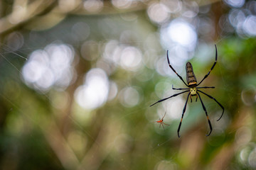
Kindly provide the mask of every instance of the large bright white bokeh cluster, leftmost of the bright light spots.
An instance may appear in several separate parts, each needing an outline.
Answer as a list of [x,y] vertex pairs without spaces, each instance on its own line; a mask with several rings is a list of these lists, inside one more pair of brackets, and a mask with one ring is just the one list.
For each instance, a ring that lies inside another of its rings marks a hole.
[[73,78],[74,52],[68,45],[50,44],[31,53],[22,76],[28,86],[47,91],[51,86],[65,89]]

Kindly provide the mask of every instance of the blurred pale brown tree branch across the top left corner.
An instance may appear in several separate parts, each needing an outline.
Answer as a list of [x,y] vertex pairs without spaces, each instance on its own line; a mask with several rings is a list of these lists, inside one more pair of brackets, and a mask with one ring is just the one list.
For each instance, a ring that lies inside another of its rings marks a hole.
[[[220,0],[200,1],[196,0],[198,6],[206,6]],[[156,1],[132,1],[127,8],[117,8],[112,1],[102,1],[103,6],[97,11],[87,11],[82,0],[36,0],[31,2],[15,0],[9,15],[0,19],[0,35],[9,33],[19,26],[27,25],[26,28],[43,30],[55,26],[62,21],[68,13],[76,15],[106,15],[116,13],[127,13],[132,11],[146,10]],[[2,6],[1,2],[1,6]],[[3,13],[3,12],[1,12]],[[3,16],[3,14],[1,15]]]

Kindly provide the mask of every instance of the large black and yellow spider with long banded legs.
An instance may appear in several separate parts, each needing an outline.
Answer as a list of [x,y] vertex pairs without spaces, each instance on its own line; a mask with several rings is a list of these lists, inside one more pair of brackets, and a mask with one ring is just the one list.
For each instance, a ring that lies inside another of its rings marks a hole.
[[[186,98],[186,103],[185,103],[185,106],[184,106],[184,108],[183,108],[183,112],[182,112],[182,115],[181,115],[181,122],[182,122],[183,115],[184,115],[184,113],[185,113],[185,111],[186,111],[186,105],[187,105],[187,103],[188,103],[188,97],[190,96],[191,102],[192,102],[192,96],[196,96],[196,101],[197,101],[197,98],[199,97],[199,99],[200,99],[200,101],[201,101],[201,104],[202,104],[202,106],[203,106],[203,111],[205,111],[205,113],[206,113],[206,118],[207,118],[207,120],[208,120],[208,124],[209,124],[209,127],[210,127],[210,132],[209,132],[208,135],[206,135],[206,136],[209,136],[209,135],[210,135],[210,133],[212,132],[213,128],[212,128],[212,125],[210,124],[210,119],[209,119],[209,117],[208,117],[208,114],[207,114],[207,111],[206,111],[206,107],[204,106],[203,101],[202,101],[202,99],[201,99],[201,96],[200,96],[200,94],[199,94],[198,92],[200,92],[201,94],[204,94],[204,95],[208,96],[209,98],[213,99],[216,103],[218,103],[218,105],[220,106],[220,108],[223,109],[223,113],[224,113],[224,107],[223,107],[215,98],[213,98],[212,96],[210,96],[210,95],[206,94],[205,92],[199,90],[199,89],[208,89],[208,88],[214,89],[214,88],[215,88],[214,86],[201,86],[201,87],[198,87],[198,86],[199,86],[199,84],[201,84],[201,83],[203,82],[204,79],[206,79],[206,78],[208,77],[208,75],[210,74],[210,72],[213,70],[213,68],[214,68],[214,66],[215,66],[215,64],[216,64],[216,62],[217,62],[217,57],[218,57],[218,52],[217,52],[217,47],[216,47],[216,45],[215,45],[215,62],[213,63],[213,66],[210,68],[210,71],[208,72],[208,74],[206,74],[206,76],[203,77],[203,79],[202,79],[199,83],[197,83],[197,81],[196,81],[196,76],[195,76],[195,74],[193,73],[192,64],[191,64],[190,62],[187,62],[187,63],[186,63],[186,81],[187,81],[188,84],[186,84],[185,81],[182,79],[182,77],[181,77],[180,75],[178,75],[178,73],[175,71],[174,67],[171,66],[171,64],[170,64],[170,62],[169,62],[169,56],[168,56],[168,50],[167,50],[167,61],[168,61],[169,67],[174,71],[174,73],[178,76],[178,78],[181,79],[181,81],[183,81],[183,83],[184,83],[188,88],[176,89],[176,88],[174,88],[174,86],[172,86],[172,89],[174,89],[174,90],[186,90],[186,91],[182,91],[181,93],[174,94],[174,95],[169,96],[169,97],[167,97],[167,98],[163,98],[163,99],[161,99],[161,100],[159,100],[159,101],[156,101],[156,103],[160,103],[161,101],[165,101],[165,100],[167,100],[167,99],[169,99],[169,98],[172,98],[172,97],[175,97],[175,96],[178,96],[178,95],[180,95],[180,94],[183,94],[183,93],[188,92],[188,96],[187,96],[187,98]],[[154,106],[156,103],[151,104],[151,106]],[[223,113],[220,115],[220,118],[222,118]],[[220,120],[220,118],[218,118],[218,120]],[[217,121],[218,121],[218,120],[217,120]],[[160,121],[160,120],[159,120],[159,121]],[[178,125],[178,137],[181,137],[181,136],[179,135],[179,131],[180,131],[180,129],[181,129],[181,122],[180,122],[179,125]]]

